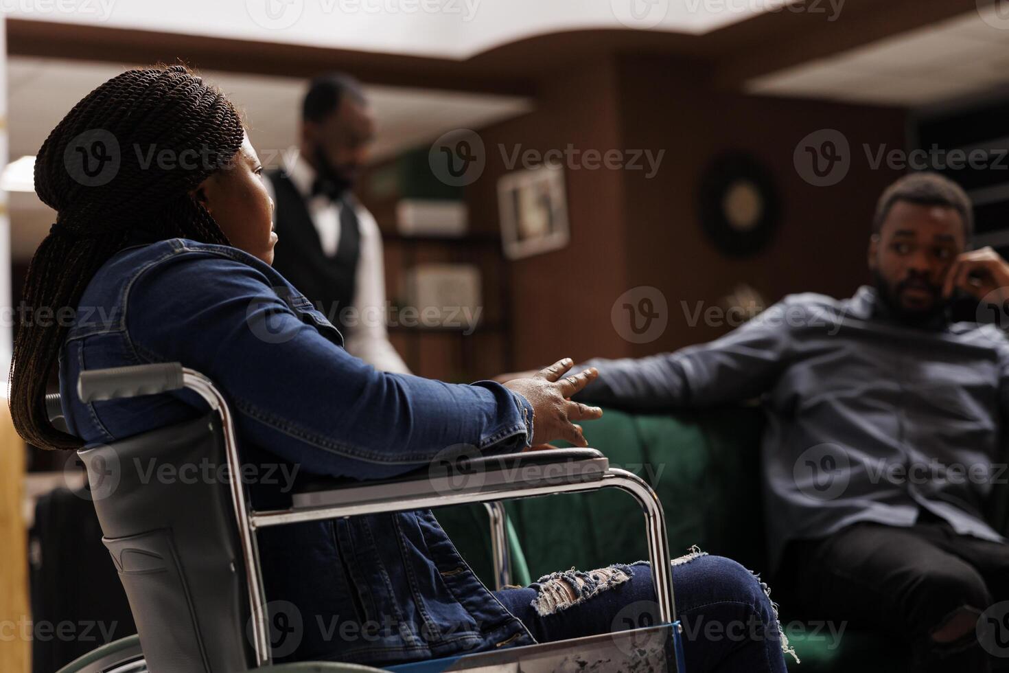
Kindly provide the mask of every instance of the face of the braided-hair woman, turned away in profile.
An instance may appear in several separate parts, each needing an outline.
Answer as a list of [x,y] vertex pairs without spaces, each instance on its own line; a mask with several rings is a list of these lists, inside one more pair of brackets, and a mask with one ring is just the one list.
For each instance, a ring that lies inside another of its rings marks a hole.
[[262,164],[249,142],[242,140],[231,163],[203,181],[194,197],[203,203],[236,248],[273,263],[273,201],[263,185]]

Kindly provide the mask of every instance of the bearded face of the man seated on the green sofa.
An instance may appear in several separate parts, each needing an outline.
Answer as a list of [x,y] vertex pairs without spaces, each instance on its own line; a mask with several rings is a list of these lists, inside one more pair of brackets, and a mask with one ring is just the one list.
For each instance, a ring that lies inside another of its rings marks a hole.
[[952,208],[898,201],[869,245],[869,268],[884,299],[907,320],[941,311],[942,284],[964,252],[964,221]]

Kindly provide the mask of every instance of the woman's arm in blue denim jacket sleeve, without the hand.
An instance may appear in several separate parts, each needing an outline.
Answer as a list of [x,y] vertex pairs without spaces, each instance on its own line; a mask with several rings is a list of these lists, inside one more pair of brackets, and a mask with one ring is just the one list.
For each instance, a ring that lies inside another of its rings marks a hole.
[[126,307],[139,356],[209,376],[243,438],[308,471],[380,478],[459,444],[508,452],[532,442],[522,395],[380,372],[303,322],[243,262],[173,255],[138,276]]

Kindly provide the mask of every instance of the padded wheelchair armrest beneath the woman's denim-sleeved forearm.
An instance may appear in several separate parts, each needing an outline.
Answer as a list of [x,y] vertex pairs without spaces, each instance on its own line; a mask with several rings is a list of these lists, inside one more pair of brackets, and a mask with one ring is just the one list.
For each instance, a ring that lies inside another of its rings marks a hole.
[[609,460],[595,449],[548,449],[480,456],[431,463],[389,479],[304,479],[295,485],[292,506],[299,510],[479,492],[500,485],[582,483],[601,479],[607,469]]

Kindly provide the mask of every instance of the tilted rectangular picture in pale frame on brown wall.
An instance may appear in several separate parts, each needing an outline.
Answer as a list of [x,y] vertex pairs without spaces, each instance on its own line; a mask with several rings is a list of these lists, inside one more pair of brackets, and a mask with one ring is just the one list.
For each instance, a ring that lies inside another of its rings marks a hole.
[[497,181],[501,242],[509,259],[557,250],[568,244],[564,170],[541,165]]

